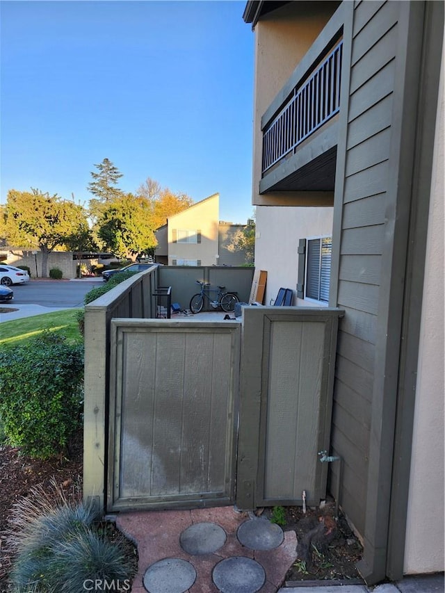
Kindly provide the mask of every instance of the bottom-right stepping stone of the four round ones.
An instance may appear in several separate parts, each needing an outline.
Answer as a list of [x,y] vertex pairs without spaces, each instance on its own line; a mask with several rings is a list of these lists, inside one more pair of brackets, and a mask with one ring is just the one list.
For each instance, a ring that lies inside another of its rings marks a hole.
[[255,560],[234,556],[218,562],[212,578],[222,593],[255,593],[264,585],[266,573]]

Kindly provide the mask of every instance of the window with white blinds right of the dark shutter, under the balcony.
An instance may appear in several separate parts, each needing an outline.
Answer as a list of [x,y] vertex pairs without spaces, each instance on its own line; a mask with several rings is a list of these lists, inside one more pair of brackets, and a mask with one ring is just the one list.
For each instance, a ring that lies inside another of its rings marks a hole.
[[332,237],[307,239],[305,297],[329,302]]

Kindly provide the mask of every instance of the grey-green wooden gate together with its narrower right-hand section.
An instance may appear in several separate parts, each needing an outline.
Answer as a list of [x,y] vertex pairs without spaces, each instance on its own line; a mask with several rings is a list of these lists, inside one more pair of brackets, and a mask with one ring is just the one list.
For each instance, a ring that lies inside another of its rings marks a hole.
[[111,320],[108,510],[317,504],[341,314]]

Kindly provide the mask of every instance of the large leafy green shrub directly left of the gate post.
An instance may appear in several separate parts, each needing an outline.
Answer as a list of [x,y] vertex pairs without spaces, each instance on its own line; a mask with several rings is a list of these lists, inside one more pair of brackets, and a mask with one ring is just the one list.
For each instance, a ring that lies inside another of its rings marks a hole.
[[83,346],[44,331],[0,351],[0,393],[8,442],[31,457],[60,455],[81,424]]

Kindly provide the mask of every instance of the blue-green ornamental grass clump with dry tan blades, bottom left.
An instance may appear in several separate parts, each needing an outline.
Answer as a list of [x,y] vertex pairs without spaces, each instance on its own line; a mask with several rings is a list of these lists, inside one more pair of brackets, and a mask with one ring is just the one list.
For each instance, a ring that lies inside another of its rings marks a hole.
[[100,534],[94,509],[79,496],[69,501],[55,482],[51,489],[37,487],[15,505],[8,531],[15,591],[79,593],[99,581],[129,590],[134,562],[123,538],[112,542]]

